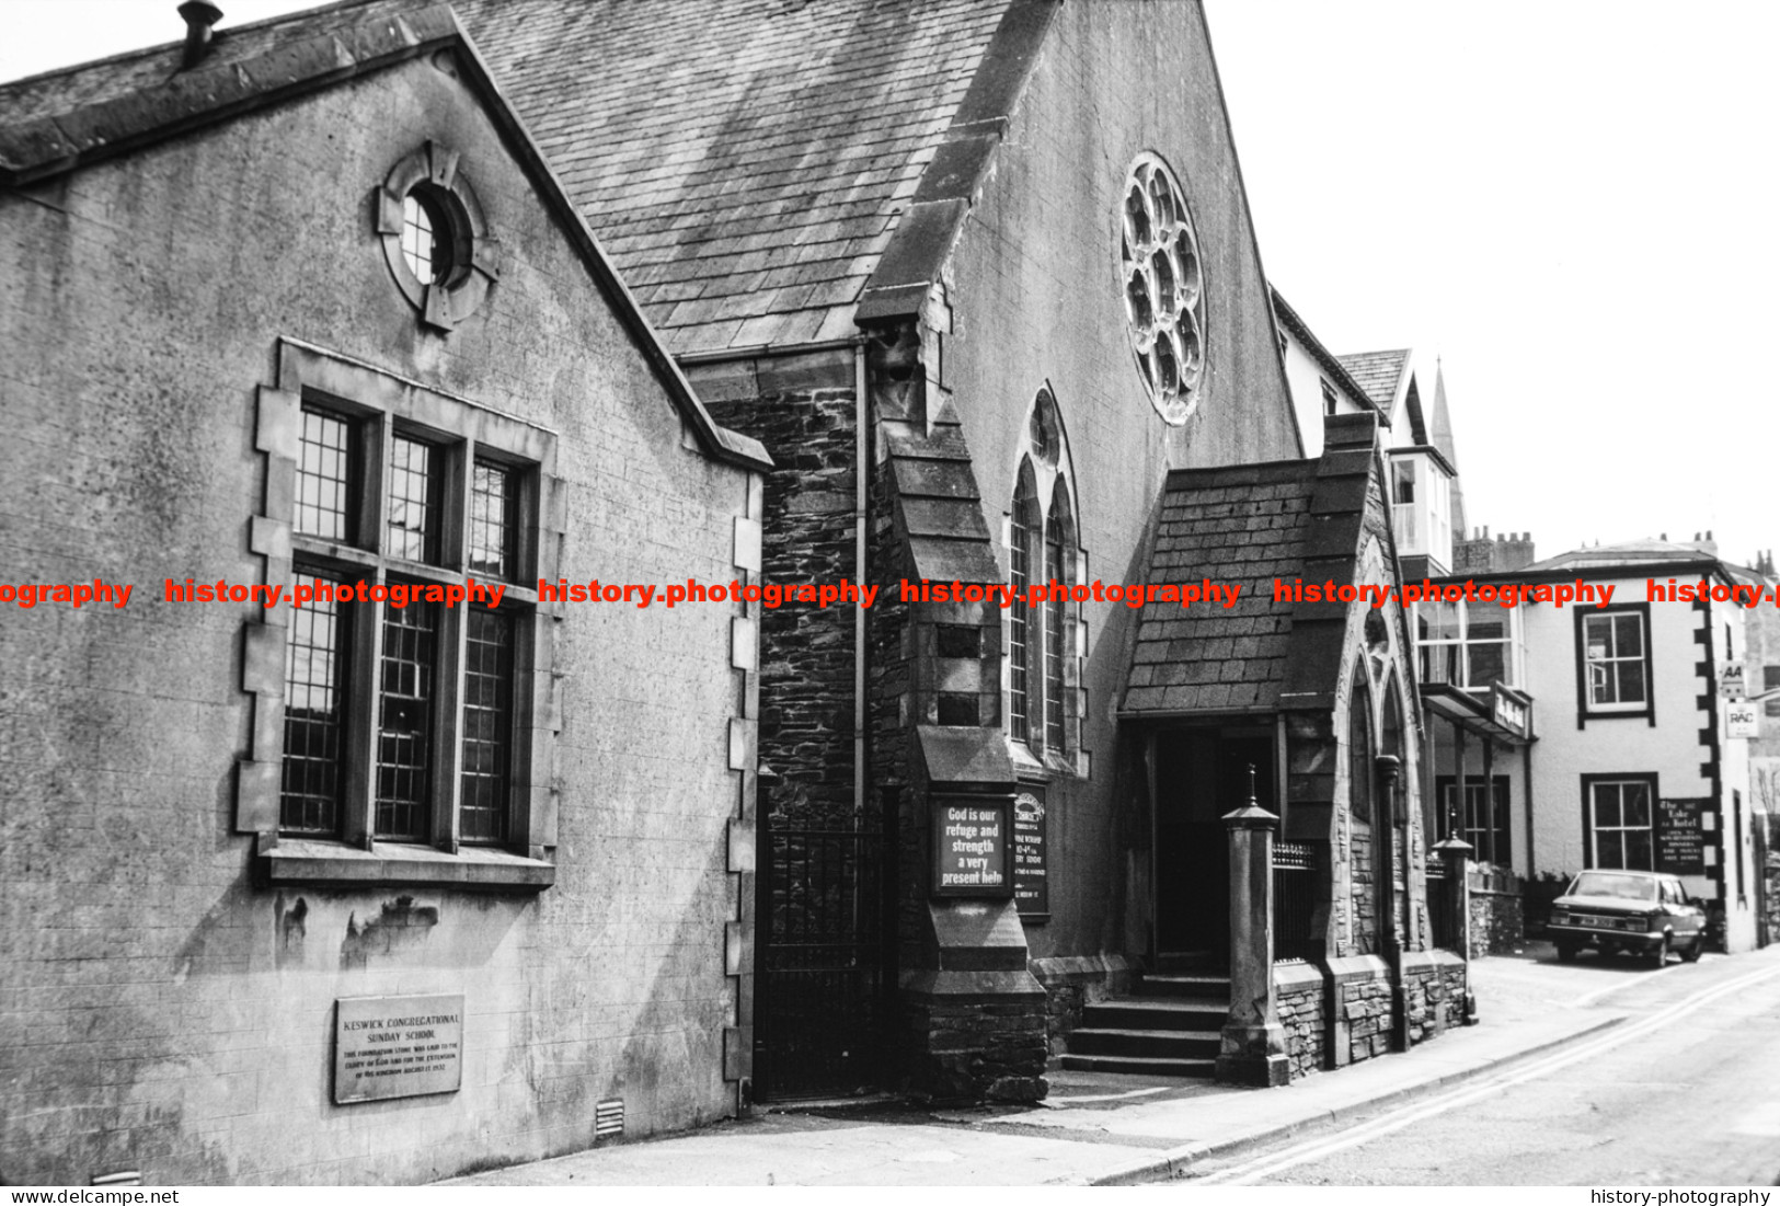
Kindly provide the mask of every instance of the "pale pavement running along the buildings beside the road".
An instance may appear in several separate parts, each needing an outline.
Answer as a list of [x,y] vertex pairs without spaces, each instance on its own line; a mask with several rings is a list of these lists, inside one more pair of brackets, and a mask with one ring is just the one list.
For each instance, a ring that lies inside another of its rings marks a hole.
[[1121,1185],[1493,1073],[1618,1025],[1620,989],[1661,973],[1622,959],[1559,964],[1547,943],[1472,962],[1479,1019],[1401,1055],[1285,1089],[1052,1069],[1032,1106],[756,1106],[751,1117],[447,1185]]

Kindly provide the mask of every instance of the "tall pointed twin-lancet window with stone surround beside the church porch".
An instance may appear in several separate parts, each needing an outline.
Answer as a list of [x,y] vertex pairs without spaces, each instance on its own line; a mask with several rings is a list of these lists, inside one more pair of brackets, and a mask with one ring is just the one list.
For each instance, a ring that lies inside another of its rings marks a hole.
[[[1048,400],[1048,411],[1052,422],[1043,420],[1045,400]],[[1080,546],[1080,507],[1077,505],[1075,493],[1075,471],[1070,459],[1070,438],[1063,425],[1063,416],[1056,402],[1056,391],[1047,381],[1041,384],[1032,397],[1032,404],[1027,407],[1027,414],[1022,420],[1022,436],[1016,446],[1015,459],[1015,494],[1018,494],[1020,480],[1024,473],[1031,473],[1032,494],[1036,500],[1036,509],[1040,516],[1040,525],[1032,530],[1032,557],[1029,566],[1029,576],[1032,582],[1045,580],[1045,537],[1048,534],[1050,516],[1057,502],[1057,493],[1063,493],[1063,502],[1068,507],[1068,532],[1063,541],[1063,560],[1064,560],[1064,580],[1075,587],[1088,580],[1088,550]],[[1043,446],[1040,434],[1045,434]],[[1002,550],[1009,557],[1013,555],[1013,503],[1009,498],[1009,507],[1002,514]],[[1004,576],[1006,580],[1006,576]],[[1045,607],[1050,607],[1048,603]],[[1088,621],[1080,617],[1080,605],[1068,603],[1063,624],[1064,642],[1072,646],[1072,651],[1063,658],[1063,749],[1048,749],[1045,742],[1045,612],[1038,608],[1029,617],[1027,642],[1031,651],[1029,674],[1027,674],[1027,713],[1029,713],[1029,731],[1036,733],[1036,740],[1018,740],[1013,733],[1007,733],[1007,752],[1013,758],[1016,774],[1027,781],[1048,781],[1056,776],[1075,776],[1086,777],[1089,768],[1089,754],[1082,749],[1080,740],[1080,719],[1082,719],[1082,663],[1088,653]],[[1013,617],[1009,614],[1002,619],[1002,647],[1011,649]],[[1011,656],[1002,656],[1002,683],[1000,683],[1004,715],[1013,715],[1013,660]],[[1038,712],[1032,712],[1034,701]]]

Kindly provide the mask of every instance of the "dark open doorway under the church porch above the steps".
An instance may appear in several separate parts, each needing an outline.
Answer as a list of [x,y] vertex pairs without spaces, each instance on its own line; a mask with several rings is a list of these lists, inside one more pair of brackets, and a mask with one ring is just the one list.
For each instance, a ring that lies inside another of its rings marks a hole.
[[1230,840],[1225,813],[1274,808],[1273,729],[1226,726],[1155,735],[1155,953],[1230,966]]

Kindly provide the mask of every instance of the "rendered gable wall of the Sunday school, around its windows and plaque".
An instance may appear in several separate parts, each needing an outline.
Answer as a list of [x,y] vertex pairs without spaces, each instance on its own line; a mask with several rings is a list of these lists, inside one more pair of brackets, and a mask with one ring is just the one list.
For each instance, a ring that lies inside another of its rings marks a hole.
[[[424,331],[370,192],[461,151],[500,285]],[[0,623],[0,1169],[16,1183],[427,1181],[733,1108],[724,857],[739,713],[724,605],[555,624],[557,882],[538,896],[265,891],[233,831],[258,582],[255,391],[281,336],[557,432],[573,582],[730,582],[746,475],[682,420],[534,185],[429,62],[0,196],[5,580],[135,583]],[[545,790],[546,784],[539,784]],[[402,898],[408,898],[404,904]],[[336,1106],[342,996],[463,993],[456,1094]]]

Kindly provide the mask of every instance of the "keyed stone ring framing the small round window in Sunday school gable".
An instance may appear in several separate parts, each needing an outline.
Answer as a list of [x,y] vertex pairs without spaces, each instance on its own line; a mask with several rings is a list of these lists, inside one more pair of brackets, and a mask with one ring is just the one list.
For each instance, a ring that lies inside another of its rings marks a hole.
[[[447,281],[422,281],[402,254],[402,203],[425,189],[434,210],[450,228],[434,231],[456,247]],[[397,160],[374,194],[374,226],[383,242],[383,260],[402,297],[420,311],[420,322],[450,331],[473,315],[500,279],[500,240],[488,229],[482,203],[459,169],[457,151],[427,141]]]

